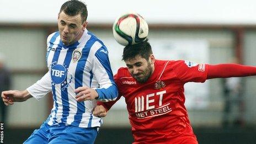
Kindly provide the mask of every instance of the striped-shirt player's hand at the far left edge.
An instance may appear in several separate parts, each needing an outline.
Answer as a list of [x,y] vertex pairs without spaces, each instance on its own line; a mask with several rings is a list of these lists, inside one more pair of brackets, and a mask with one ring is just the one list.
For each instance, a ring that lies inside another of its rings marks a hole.
[[24,102],[31,98],[31,95],[27,90],[7,90],[2,92],[1,97],[5,105],[13,105],[14,102]]

